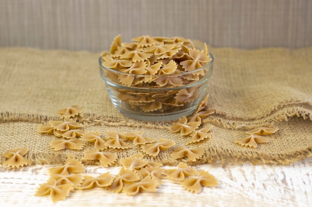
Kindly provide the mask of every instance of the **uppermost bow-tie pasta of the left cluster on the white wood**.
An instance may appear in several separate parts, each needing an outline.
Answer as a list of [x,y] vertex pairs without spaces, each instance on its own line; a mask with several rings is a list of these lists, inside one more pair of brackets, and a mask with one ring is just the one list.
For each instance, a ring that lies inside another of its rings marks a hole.
[[55,174],[69,175],[70,173],[83,173],[85,172],[84,165],[77,159],[68,157],[62,166],[49,168],[50,175]]

